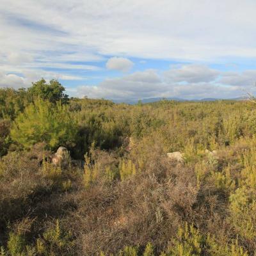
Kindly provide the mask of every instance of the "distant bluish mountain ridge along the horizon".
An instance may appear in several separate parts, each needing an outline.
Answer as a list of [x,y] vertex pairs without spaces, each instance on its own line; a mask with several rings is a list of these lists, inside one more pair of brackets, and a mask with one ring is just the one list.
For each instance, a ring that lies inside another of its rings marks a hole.
[[134,105],[134,104],[138,104],[139,101],[141,103],[150,103],[150,102],[157,102],[157,101],[160,101],[163,99],[164,100],[175,100],[175,101],[179,101],[179,102],[185,102],[185,101],[203,102],[203,101],[216,101],[216,100],[247,100],[248,97],[236,97],[236,98],[232,98],[232,99],[204,98],[204,99],[191,99],[191,100],[177,98],[177,97],[167,97],[167,98],[157,97],[157,98],[148,98],[148,99],[140,99],[140,100],[112,100],[112,101],[115,103],[126,103],[126,104]]

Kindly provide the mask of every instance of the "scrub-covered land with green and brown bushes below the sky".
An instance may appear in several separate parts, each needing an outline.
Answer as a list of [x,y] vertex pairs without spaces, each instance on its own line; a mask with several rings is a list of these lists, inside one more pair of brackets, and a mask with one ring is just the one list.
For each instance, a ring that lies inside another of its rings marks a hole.
[[115,104],[39,81],[0,90],[0,134],[1,256],[255,255],[253,102]]

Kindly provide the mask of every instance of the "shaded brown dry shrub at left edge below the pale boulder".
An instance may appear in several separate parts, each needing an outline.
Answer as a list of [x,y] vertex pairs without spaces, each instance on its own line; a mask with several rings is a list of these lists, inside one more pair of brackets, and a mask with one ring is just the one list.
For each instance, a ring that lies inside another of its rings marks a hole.
[[35,239],[49,218],[74,209],[72,198],[61,195],[61,188],[44,177],[42,161],[49,152],[41,146],[30,152],[10,152],[0,159],[1,244],[6,243],[9,232],[26,232],[29,239]]

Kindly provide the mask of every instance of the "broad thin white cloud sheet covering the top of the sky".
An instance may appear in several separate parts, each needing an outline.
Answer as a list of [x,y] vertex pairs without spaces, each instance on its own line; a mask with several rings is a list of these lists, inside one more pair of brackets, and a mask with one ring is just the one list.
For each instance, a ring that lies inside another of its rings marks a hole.
[[[256,56],[256,2],[2,0],[1,49],[60,60],[102,54],[178,60]],[[38,15],[44,13],[44,15]],[[56,54],[56,52],[58,52]],[[56,61],[58,61],[56,60]]]

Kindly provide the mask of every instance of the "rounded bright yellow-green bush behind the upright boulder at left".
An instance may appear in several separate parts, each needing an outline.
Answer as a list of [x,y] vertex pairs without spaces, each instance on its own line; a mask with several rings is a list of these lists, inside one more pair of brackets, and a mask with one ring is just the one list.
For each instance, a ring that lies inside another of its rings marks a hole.
[[39,142],[45,142],[49,148],[70,146],[76,141],[76,127],[67,106],[36,100],[17,116],[11,137],[25,148]]

